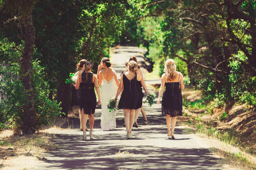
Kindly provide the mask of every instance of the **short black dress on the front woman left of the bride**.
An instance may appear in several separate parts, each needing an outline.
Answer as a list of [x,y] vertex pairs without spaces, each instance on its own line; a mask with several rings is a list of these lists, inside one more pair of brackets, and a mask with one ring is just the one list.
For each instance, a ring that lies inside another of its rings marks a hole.
[[82,73],[82,82],[77,90],[77,101],[80,110],[84,109],[84,113],[94,114],[97,100],[94,92],[94,83],[92,82],[93,73]]

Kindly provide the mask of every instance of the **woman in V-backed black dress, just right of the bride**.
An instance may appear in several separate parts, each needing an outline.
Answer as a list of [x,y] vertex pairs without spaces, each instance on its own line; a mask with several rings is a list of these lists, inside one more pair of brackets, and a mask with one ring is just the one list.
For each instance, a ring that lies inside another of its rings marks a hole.
[[121,91],[122,95],[119,100],[118,108],[124,109],[124,123],[127,131],[126,139],[132,138],[132,125],[134,123],[135,109],[138,108],[139,94],[137,91],[137,81],[141,80],[140,73],[137,69],[137,63],[130,61],[128,71],[121,75],[120,84],[117,89],[115,100]]

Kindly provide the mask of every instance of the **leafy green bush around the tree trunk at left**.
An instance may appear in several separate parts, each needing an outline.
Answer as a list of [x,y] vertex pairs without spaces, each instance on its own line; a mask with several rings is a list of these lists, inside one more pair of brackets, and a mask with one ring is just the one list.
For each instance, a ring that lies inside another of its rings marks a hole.
[[[21,129],[23,109],[28,103],[25,90],[20,81],[21,68],[19,58],[21,53],[17,46],[2,40],[0,57],[0,131],[6,128]],[[22,48],[22,46],[20,46]],[[35,125],[48,125],[61,114],[59,103],[49,99],[49,84],[44,80],[44,68],[39,61],[33,62],[33,87],[35,91]]]

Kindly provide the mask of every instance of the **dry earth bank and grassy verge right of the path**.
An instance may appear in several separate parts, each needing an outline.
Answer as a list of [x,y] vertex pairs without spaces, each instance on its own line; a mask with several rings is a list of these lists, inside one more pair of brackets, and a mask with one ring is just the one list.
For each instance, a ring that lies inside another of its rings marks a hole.
[[[182,94],[190,102],[201,99],[198,90],[188,89]],[[213,151],[219,156],[248,169],[256,169],[256,112],[251,106],[235,103],[221,108],[212,105],[186,110],[187,116],[182,121],[204,138],[213,140]]]

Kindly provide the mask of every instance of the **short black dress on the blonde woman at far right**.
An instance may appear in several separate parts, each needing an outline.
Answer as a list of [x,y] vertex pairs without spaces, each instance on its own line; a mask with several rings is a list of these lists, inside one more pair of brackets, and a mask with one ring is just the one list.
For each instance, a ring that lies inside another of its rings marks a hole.
[[[179,76],[180,79],[180,76]],[[180,82],[165,83],[165,91],[162,98],[162,115],[182,116],[182,95]]]

